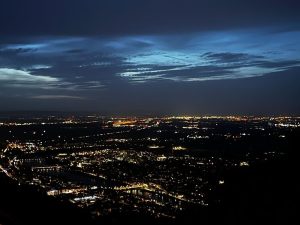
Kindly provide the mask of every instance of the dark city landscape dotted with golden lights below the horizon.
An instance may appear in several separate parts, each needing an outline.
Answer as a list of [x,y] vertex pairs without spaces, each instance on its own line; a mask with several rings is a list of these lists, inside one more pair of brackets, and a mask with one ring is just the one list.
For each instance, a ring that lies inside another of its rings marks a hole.
[[300,117],[0,117],[0,221],[289,224],[299,128]]

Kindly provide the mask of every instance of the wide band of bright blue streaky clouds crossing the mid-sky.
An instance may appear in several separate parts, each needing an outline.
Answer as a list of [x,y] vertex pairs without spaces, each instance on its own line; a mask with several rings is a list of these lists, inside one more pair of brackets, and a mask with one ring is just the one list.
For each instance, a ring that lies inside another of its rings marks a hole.
[[[118,82],[240,79],[299,66],[295,54],[300,49],[295,41],[298,36],[299,32],[231,30],[113,38],[41,37],[27,44],[2,45],[0,68],[15,68],[32,79],[14,82],[8,80],[6,71],[3,83],[11,87],[34,88],[38,82],[36,88],[70,91]],[[42,83],[40,77],[56,81]]]

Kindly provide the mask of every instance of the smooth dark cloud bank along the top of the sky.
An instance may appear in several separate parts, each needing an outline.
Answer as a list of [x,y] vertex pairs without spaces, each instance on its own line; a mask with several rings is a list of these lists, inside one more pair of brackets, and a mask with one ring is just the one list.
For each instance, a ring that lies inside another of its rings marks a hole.
[[[4,0],[6,35],[160,34],[278,25],[298,27],[298,0]],[[292,29],[292,28],[290,28]]]

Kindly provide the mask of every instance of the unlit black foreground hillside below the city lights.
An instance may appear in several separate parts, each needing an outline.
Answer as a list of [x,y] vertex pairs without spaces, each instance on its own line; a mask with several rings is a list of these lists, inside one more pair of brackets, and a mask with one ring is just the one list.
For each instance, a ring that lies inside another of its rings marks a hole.
[[[205,209],[190,209],[178,224],[293,224],[296,215],[296,160],[283,159],[251,169],[231,171],[228,182],[212,196]],[[109,217],[93,221],[88,213],[71,204],[19,186],[1,174],[0,221],[3,225],[35,224],[162,224],[143,215]],[[219,196],[221,202],[213,199]]]

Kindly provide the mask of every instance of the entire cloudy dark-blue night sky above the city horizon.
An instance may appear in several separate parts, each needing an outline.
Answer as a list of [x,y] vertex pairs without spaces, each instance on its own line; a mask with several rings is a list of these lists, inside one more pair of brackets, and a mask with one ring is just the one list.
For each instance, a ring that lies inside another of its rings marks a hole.
[[1,0],[0,111],[300,114],[299,0]]

